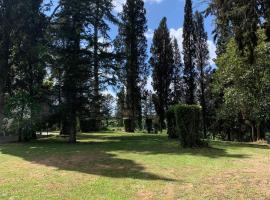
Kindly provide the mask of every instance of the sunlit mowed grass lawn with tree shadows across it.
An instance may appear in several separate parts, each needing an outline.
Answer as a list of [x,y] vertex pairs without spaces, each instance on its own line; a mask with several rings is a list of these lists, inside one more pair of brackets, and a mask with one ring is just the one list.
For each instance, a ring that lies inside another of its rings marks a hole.
[[0,145],[0,199],[270,199],[270,147],[82,134]]

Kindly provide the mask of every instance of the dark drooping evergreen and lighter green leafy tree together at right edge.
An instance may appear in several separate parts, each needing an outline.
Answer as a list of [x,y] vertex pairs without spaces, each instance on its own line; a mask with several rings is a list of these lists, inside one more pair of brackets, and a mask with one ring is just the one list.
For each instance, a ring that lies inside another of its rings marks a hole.
[[215,16],[218,55],[212,128],[229,140],[269,130],[269,8],[267,0],[213,0],[206,11]]

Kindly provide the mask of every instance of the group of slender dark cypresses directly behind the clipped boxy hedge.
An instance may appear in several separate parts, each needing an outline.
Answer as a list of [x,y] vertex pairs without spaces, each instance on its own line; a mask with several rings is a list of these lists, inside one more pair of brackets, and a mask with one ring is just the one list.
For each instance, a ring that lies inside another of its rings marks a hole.
[[201,104],[206,136],[207,100],[205,97],[209,69],[208,36],[204,17],[192,11],[192,1],[187,0],[183,27],[183,60],[176,38],[170,37],[166,18],[154,33],[150,65],[153,69],[154,103],[160,126],[165,128],[165,113],[169,106],[186,103]]

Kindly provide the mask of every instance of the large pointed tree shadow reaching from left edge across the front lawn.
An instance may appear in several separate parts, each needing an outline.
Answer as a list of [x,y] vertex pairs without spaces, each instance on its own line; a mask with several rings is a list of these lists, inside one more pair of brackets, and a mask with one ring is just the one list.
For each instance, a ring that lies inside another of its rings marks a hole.
[[151,181],[180,181],[147,172],[145,167],[130,159],[117,157],[92,145],[31,143],[0,146],[2,154],[23,158],[31,164],[111,178],[131,178]]

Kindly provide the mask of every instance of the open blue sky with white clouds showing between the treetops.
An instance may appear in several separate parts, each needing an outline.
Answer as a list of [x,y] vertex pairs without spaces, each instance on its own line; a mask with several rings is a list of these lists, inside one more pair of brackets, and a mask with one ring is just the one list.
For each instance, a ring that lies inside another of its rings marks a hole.
[[[168,27],[170,29],[171,35],[176,37],[180,48],[182,47],[182,27],[184,23],[184,6],[185,0],[144,0],[145,7],[147,10],[147,20],[148,20],[148,32],[146,34],[148,38],[148,45],[150,47],[153,32],[158,27],[160,20],[163,17],[167,17]],[[122,4],[125,0],[114,0],[115,13],[120,12],[122,9]],[[202,3],[203,0],[193,0],[193,11],[203,11],[207,7],[206,3]],[[208,32],[208,45],[210,50],[210,63],[213,65],[212,61],[215,55],[215,45],[213,42],[212,31],[214,29],[213,18],[208,17],[205,19],[205,29]],[[111,35],[114,37],[117,34],[117,28],[112,27]]]

